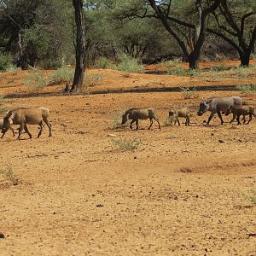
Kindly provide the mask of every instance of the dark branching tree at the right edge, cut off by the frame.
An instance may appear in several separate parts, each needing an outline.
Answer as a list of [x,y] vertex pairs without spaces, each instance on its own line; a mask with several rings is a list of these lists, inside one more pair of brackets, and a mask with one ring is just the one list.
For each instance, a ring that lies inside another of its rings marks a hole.
[[[250,2],[250,1],[248,1]],[[250,6],[251,4],[251,6]],[[208,27],[207,32],[223,38],[234,47],[241,60],[241,66],[248,66],[256,41],[256,11],[252,3],[222,0],[213,12],[217,27]]]

